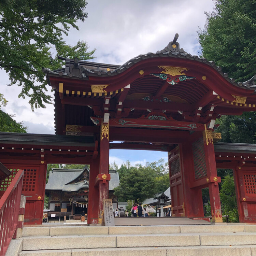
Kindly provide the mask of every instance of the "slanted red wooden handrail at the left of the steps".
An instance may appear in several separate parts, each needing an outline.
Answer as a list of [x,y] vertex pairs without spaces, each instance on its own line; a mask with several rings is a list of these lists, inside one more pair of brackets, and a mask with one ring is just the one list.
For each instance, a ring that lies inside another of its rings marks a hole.
[[0,199],[0,255],[5,255],[18,225],[24,170],[19,170]]

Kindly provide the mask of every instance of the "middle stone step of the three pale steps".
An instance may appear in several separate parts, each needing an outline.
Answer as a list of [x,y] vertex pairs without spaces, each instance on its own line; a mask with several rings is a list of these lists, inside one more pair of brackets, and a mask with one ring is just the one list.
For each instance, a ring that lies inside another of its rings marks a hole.
[[169,234],[109,234],[80,236],[23,237],[22,251],[159,247],[159,246],[211,246],[255,245],[256,233],[169,233]]

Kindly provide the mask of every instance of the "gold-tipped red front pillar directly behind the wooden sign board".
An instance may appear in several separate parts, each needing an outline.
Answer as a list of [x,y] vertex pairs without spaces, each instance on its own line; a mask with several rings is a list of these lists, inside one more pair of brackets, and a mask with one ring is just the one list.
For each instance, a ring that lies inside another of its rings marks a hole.
[[106,179],[109,175],[109,123],[104,124],[103,119],[100,128],[100,170],[98,175],[99,185],[99,216],[98,223],[103,220],[103,199],[109,197],[109,182]]

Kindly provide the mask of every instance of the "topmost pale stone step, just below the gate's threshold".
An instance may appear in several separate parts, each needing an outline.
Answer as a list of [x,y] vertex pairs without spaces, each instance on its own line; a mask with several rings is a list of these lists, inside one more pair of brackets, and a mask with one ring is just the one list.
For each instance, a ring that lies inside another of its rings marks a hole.
[[170,234],[210,232],[256,232],[256,225],[155,225],[155,226],[77,226],[77,227],[26,227],[22,236],[66,236],[106,234]]

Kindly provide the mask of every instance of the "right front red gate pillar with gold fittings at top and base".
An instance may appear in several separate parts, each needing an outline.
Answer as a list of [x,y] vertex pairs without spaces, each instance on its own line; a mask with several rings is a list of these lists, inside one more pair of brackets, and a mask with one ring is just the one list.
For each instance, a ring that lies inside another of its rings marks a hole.
[[221,212],[221,200],[219,199],[220,178],[217,177],[212,131],[206,129],[203,131],[205,163],[207,168],[207,181],[209,182],[209,194],[212,212],[212,222],[223,222]]

